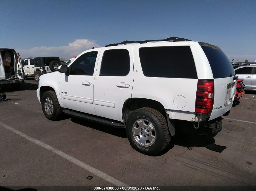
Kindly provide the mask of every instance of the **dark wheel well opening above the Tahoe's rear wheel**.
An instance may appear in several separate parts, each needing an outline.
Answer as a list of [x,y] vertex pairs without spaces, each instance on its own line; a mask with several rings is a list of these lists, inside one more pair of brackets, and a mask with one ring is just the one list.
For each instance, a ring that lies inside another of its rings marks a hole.
[[131,114],[131,112],[133,112],[139,108],[142,108],[142,107],[150,107],[155,110],[158,110],[166,118],[165,108],[160,102],[158,102],[156,100],[145,99],[145,98],[130,98],[125,101],[124,106],[123,106],[124,122],[126,122],[128,116]]

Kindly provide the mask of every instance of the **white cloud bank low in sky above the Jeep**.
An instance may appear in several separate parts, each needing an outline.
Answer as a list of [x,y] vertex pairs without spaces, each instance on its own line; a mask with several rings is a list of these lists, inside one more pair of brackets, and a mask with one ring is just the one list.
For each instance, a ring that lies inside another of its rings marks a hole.
[[17,51],[20,53],[21,58],[26,58],[29,56],[58,56],[60,58],[70,59],[70,56],[77,56],[81,52],[91,49],[92,47],[98,48],[100,46],[94,41],[77,39],[74,42],[69,43],[68,46],[41,46],[31,49],[17,49]]

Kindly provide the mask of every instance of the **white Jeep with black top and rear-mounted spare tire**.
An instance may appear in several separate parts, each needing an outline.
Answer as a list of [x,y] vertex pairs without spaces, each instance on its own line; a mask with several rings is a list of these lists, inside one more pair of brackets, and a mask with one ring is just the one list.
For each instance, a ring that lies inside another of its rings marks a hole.
[[[64,63],[62,63],[64,64]],[[24,60],[24,70],[27,77],[34,77],[39,81],[42,74],[58,71],[61,65],[59,57],[37,57]]]

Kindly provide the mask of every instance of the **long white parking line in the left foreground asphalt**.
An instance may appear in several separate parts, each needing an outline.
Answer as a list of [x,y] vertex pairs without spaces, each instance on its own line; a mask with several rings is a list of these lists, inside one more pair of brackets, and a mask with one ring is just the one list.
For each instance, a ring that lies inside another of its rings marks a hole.
[[74,158],[74,157],[71,157],[70,155],[68,155],[68,154],[66,154],[66,153],[64,153],[64,152],[62,152],[62,151],[59,151],[59,150],[56,149],[56,148],[53,148],[53,147],[50,146],[50,145],[47,145],[47,144],[45,144],[45,143],[43,143],[43,142],[41,142],[41,141],[39,141],[39,140],[37,140],[37,139],[35,139],[35,138],[32,138],[32,137],[30,137],[30,136],[28,136],[28,135],[26,135],[26,134],[24,134],[24,133],[22,133],[22,132],[16,130],[16,129],[13,129],[12,127],[10,127],[10,126],[8,126],[8,125],[5,125],[5,124],[2,123],[2,122],[0,122],[0,125],[1,125],[2,127],[4,127],[5,129],[8,129],[8,130],[10,130],[10,131],[16,133],[17,135],[20,135],[21,137],[23,137],[23,138],[25,138],[25,139],[27,139],[27,140],[29,140],[29,141],[31,141],[31,142],[33,142],[33,143],[35,143],[35,144],[41,146],[41,147],[43,147],[43,148],[45,148],[45,149],[47,149],[47,150],[49,150],[49,151],[52,151],[52,152],[55,153],[55,154],[58,154],[58,155],[61,156],[62,158],[67,159],[68,161],[70,161],[70,162],[72,162],[72,163],[74,163],[74,164],[76,164],[76,165],[82,167],[83,169],[85,169],[85,170],[87,170],[87,171],[89,171],[89,172],[95,174],[95,175],[98,176],[98,177],[101,177],[102,179],[104,179],[104,180],[106,180],[106,181],[108,181],[108,182],[110,182],[110,183],[112,183],[112,184],[114,184],[114,185],[116,185],[116,186],[128,186],[128,185],[126,185],[125,183],[122,183],[121,181],[116,180],[115,178],[113,178],[113,177],[107,175],[106,173],[101,172],[100,170],[98,170],[98,169],[96,169],[96,168],[94,168],[94,167],[91,167],[90,165],[85,164],[84,162],[79,161],[78,159],[76,159],[76,158]]

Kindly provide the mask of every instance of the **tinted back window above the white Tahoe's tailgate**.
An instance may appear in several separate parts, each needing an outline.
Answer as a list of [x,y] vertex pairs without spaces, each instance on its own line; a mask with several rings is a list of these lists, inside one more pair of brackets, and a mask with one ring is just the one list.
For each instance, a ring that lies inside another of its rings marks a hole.
[[211,65],[213,78],[226,78],[234,76],[234,68],[228,57],[218,46],[199,43]]

